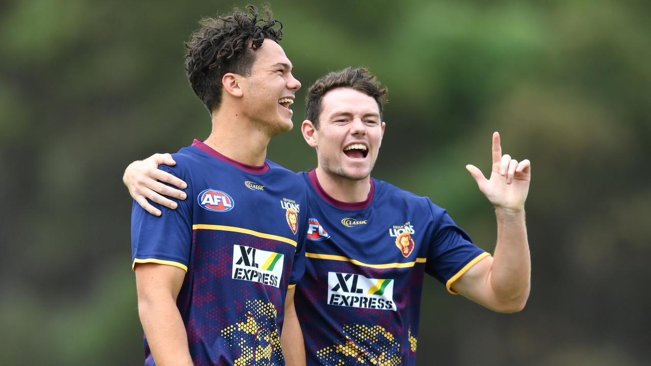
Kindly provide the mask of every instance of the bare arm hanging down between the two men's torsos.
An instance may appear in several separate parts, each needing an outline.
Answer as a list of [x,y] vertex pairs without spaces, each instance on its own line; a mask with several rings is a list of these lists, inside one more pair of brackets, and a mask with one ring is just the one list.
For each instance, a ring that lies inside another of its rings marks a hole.
[[304,366],[306,362],[305,344],[303,343],[303,332],[296,316],[296,308],[294,308],[295,289],[296,287],[287,290],[281,346],[288,366]]

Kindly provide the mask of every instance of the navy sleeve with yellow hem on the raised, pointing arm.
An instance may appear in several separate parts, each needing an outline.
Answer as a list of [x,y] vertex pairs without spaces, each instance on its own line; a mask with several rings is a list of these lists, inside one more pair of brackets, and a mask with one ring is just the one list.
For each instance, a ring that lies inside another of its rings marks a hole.
[[489,254],[475,246],[447,211],[430,202],[435,229],[430,241],[426,272],[445,283],[447,290],[456,294],[450,286],[479,260]]

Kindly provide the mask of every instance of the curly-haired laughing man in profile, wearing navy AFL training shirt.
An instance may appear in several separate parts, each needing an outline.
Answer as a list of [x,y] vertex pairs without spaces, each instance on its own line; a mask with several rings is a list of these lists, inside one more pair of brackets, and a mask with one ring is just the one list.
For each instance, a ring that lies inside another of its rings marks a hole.
[[202,20],[186,44],[187,77],[212,131],[157,170],[187,181],[184,199],[156,208],[160,216],[133,204],[145,365],[284,365],[281,331],[284,352],[304,362],[293,298],[307,192],[266,160],[271,137],[292,128],[288,107],[301,84],[276,21],[247,8]]

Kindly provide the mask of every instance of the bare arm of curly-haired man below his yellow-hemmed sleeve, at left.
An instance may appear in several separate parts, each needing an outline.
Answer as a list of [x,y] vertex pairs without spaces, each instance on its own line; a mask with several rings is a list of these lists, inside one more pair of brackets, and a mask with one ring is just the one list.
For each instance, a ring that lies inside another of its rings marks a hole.
[[185,275],[184,270],[165,264],[135,266],[138,313],[158,366],[192,366],[186,328],[176,307]]

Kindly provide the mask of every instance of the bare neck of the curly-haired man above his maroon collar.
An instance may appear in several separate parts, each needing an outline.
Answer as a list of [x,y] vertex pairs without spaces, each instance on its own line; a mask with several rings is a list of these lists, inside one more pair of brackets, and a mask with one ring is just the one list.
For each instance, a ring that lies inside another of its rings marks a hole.
[[212,114],[212,131],[204,143],[236,162],[260,166],[264,165],[270,140],[242,113],[220,108]]

